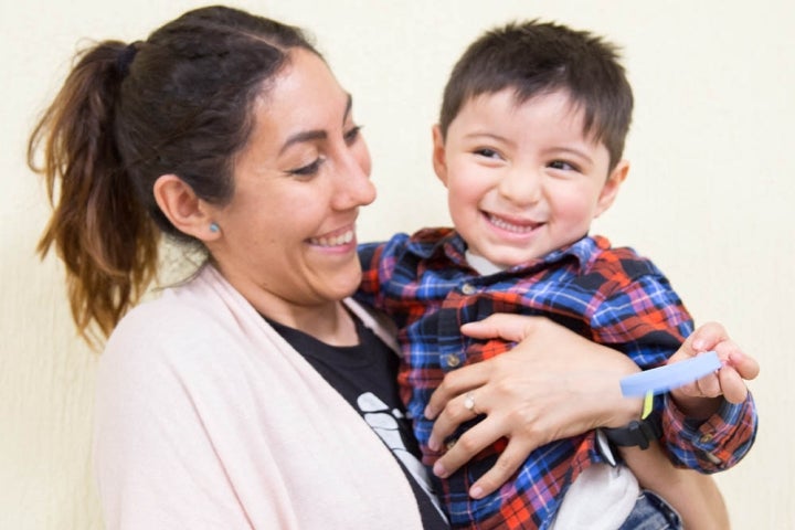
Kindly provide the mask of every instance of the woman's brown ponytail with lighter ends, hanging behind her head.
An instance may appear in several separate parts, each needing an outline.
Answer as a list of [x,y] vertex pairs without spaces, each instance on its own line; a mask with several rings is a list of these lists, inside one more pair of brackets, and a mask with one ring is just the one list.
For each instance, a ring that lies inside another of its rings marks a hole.
[[[72,317],[92,342],[107,337],[156,273],[159,232],[115,141],[114,117],[134,47],[102,42],[77,64],[30,137],[28,165],[44,177],[53,214],[39,241],[66,265]],[[127,63],[127,64],[125,64]]]

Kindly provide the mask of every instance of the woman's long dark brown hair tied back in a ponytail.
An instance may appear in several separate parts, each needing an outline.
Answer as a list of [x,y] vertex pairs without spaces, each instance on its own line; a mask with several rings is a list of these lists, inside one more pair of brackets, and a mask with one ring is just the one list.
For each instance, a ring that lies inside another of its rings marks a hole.
[[83,338],[91,342],[92,322],[109,335],[138,300],[157,269],[160,231],[188,239],[155,202],[160,176],[177,174],[211,203],[231,199],[254,100],[290,49],[318,54],[297,28],[210,7],[146,41],[77,54],[31,135],[28,163],[53,204],[38,250],[43,257],[54,246],[65,263]]

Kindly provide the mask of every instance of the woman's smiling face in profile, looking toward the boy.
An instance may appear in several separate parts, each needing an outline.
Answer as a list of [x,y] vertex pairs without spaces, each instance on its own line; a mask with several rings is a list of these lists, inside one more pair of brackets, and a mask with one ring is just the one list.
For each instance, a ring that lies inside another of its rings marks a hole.
[[359,286],[356,220],[375,189],[351,97],[317,55],[290,51],[254,114],[232,200],[212,212],[220,237],[208,248],[226,279],[278,319]]

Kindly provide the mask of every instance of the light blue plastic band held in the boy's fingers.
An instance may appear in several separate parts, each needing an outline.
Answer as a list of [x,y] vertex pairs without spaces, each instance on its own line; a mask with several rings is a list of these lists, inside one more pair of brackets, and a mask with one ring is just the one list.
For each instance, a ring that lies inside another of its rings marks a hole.
[[627,375],[621,380],[622,393],[627,398],[644,396],[649,392],[661,394],[709,375],[720,367],[718,353],[708,351],[686,361]]

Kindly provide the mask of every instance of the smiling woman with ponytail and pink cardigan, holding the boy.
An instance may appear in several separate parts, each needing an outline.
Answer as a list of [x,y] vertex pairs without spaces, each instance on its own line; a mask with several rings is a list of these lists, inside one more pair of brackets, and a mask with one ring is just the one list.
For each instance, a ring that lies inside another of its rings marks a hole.
[[[83,336],[113,331],[95,433],[109,528],[445,527],[401,413],[389,327],[347,298],[358,209],[375,198],[369,153],[351,96],[299,30],[215,7],[145,42],[99,43],[35,129],[32,165],[40,151],[59,192],[40,251],[66,264]],[[206,264],[128,312],[160,231],[201,245]],[[506,329],[536,344],[522,372],[589,384],[551,381],[534,410],[577,405],[542,428],[495,414],[481,433],[529,452],[637,416],[615,391],[637,371],[625,357],[547,321]],[[443,385],[439,423],[456,423],[475,386],[483,412],[522,413],[527,400],[501,391],[516,351]],[[498,467],[488,487],[510,474]]]

